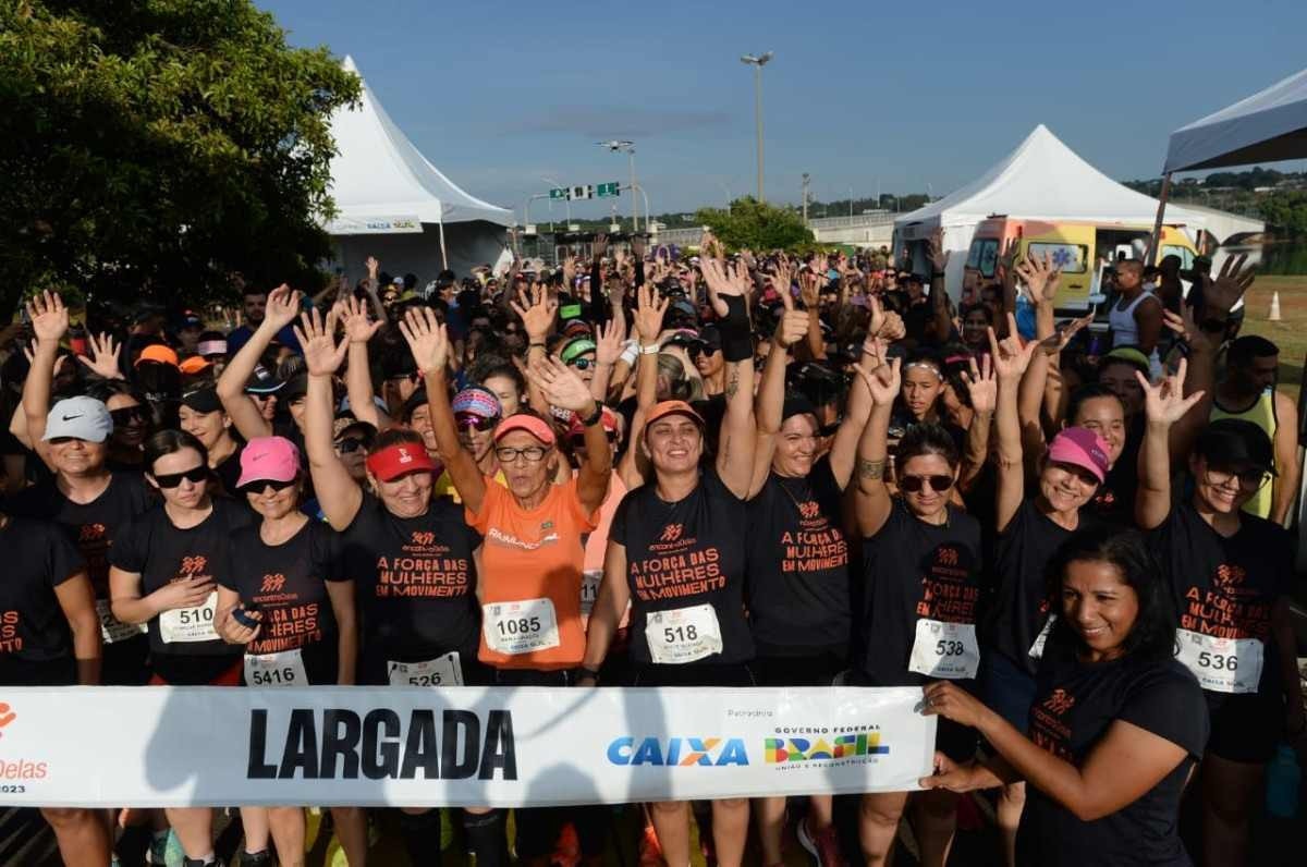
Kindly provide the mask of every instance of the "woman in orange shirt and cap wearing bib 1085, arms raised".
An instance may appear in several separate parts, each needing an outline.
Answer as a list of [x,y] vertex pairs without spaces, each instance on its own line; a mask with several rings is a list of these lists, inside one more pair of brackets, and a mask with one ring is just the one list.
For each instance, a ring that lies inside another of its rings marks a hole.
[[[549,315],[545,303],[531,307]],[[553,407],[570,409],[584,425],[586,463],[566,484],[553,484],[562,460],[554,430],[544,418],[519,412],[495,428],[494,443],[507,488],[481,473],[459,439],[446,375],[450,341],[429,309],[410,310],[400,323],[426,382],[431,428],[450,479],[463,498],[468,523],[484,537],[477,595],[481,602],[481,662],[507,687],[569,687],[586,654],[580,619],[583,535],[599,523],[613,458],[603,404],[586,383],[542,348],[532,347],[529,378]],[[518,811],[518,857],[548,864],[563,821],[578,826],[587,863],[601,863],[603,808]]]

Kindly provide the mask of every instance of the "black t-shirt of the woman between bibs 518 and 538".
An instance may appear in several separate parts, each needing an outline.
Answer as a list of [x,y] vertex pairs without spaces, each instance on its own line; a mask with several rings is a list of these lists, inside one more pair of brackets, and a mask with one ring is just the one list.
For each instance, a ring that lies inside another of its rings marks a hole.
[[749,621],[759,653],[848,650],[848,541],[830,460],[804,479],[767,475],[749,501]]

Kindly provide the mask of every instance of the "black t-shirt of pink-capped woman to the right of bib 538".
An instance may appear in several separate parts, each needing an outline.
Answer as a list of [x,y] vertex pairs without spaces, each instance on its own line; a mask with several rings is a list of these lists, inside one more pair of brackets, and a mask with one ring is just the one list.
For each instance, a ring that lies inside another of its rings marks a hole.
[[[1080,513],[1077,530],[1089,530],[1097,519]],[[1031,498],[1025,500],[995,545],[995,595],[988,605],[983,643],[1030,676],[1039,670],[1039,660],[1030,655],[1044,624],[1051,600],[1046,569],[1059,545],[1072,535],[1039,511]]]

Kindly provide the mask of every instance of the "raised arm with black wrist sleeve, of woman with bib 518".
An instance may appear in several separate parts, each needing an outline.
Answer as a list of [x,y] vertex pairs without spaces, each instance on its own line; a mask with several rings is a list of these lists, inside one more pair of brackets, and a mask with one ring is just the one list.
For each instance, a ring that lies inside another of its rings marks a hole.
[[721,418],[718,475],[731,492],[749,496],[757,434],[753,417],[753,336],[745,294],[749,275],[742,263],[729,271],[716,259],[703,259],[708,298],[720,316],[721,357],[725,360],[727,412]]

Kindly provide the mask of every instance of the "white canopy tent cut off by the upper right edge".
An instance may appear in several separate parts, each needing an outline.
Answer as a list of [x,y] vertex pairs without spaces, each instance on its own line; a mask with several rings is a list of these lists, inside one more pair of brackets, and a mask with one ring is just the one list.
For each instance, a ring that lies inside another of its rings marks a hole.
[[1307,69],[1171,133],[1162,174],[1307,156]]

